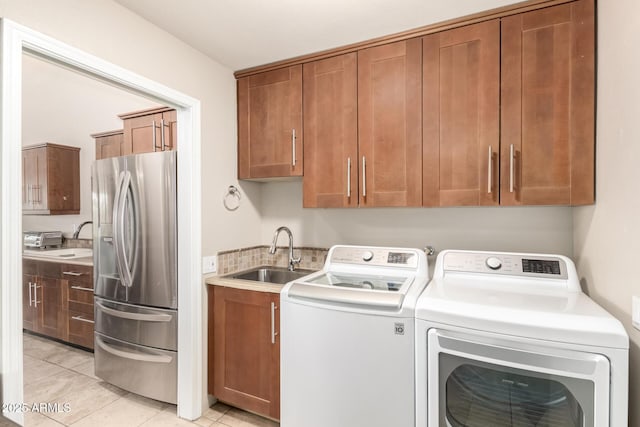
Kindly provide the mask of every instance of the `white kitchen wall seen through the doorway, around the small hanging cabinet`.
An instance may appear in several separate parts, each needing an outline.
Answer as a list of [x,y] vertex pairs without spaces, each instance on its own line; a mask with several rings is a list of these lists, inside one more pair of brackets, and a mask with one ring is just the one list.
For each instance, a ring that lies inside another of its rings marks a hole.
[[[92,133],[122,129],[119,113],[157,106],[122,89],[23,55],[22,145],[43,142],[80,148],[80,214],[24,215],[25,231],[60,230],[73,234],[75,226],[91,220],[91,164],[95,160]],[[91,238],[91,227],[82,229]]]

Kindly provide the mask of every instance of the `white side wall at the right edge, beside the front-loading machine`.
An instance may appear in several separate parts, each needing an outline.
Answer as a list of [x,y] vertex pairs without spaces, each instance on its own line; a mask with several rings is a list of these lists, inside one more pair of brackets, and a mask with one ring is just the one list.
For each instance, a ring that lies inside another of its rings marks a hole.
[[630,426],[640,425],[640,2],[598,3],[596,204],[574,210],[574,255],[589,294],[625,325],[630,350]]

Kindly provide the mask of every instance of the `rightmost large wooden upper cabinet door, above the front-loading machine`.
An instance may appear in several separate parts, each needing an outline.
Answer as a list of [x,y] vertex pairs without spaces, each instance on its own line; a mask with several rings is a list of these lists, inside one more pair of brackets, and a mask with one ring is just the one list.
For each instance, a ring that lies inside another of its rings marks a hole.
[[594,200],[594,2],[502,21],[501,204]]

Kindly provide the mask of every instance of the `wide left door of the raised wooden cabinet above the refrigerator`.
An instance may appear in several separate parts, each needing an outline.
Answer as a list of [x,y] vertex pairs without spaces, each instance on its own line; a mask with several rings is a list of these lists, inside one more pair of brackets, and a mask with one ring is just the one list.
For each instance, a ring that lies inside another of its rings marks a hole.
[[162,150],[162,113],[125,119],[123,128],[124,155]]

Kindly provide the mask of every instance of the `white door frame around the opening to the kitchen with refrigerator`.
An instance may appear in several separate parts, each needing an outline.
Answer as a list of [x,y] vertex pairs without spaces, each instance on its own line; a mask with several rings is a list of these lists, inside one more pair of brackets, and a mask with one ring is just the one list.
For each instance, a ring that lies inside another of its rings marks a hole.
[[[22,55],[34,55],[175,107],[178,113],[178,416],[206,407],[201,275],[200,101],[54,38],[0,22],[0,398],[24,402],[22,343]],[[185,191],[189,189],[189,191]],[[184,215],[180,215],[184,212]],[[16,285],[17,284],[17,285]],[[23,424],[20,412],[4,413]]]

